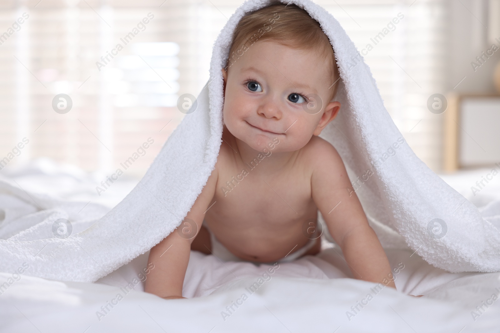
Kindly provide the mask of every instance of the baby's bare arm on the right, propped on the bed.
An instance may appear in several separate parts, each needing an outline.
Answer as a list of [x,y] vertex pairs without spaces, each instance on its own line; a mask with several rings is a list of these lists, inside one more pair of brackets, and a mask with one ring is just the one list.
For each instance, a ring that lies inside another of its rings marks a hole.
[[[331,236],[342,249],[352,275],[356,279],[371,282],[382,283],[389,280],[390,282],[384,285],[396,288],[391,281],[392,272],[387,256],[375,232],[368,225],[340,156],[335,148],[324,140],[316,140],[314,150],[316,153],[311,175],[312,199]],[[374,180],[368,178],[366,181]]]

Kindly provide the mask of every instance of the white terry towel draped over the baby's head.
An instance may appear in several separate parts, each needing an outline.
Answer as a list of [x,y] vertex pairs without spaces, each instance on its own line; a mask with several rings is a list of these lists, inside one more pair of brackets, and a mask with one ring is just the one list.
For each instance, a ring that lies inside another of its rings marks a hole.
[[[500,271],[500,233],[470,202],[405,143],[396,155],[381,159],[402,135],[383,106],[368,66],[363,61],[350,66],[358,52],[338,21],[311,1],[281,2],[307,10],[331,41],[341,76],[336,99],[342,107],[321,137],[337,149],[352,181],[372,173],[356,194],[382,246],[409,246],[430,264],[450,272]],[[14,271],[26,262],[29,275],[93,282],[174,230],[206,183],[222,142],[220,68],[225,66],[234,26],[246,12],[271,3],[246,1],[229,18],[215,41],[210,80],[197,98],[197,109],[185,116],[123,201],[86,230],[65,239],[46,238],[38,225],[1,239],[0,271]],[[1,191],[11,189],[3,183]],[[48,202],[39,205],[50,207]]]

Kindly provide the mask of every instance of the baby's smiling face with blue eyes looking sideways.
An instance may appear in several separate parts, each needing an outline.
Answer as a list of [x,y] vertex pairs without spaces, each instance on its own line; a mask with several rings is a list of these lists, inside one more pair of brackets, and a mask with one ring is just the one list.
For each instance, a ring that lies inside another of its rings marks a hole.
[[227,72],[222,69],[224,124],[257,151],[268,148],[274,138],[279,144],[273,151],[302,148],[340,107],[329,101],[336,79],[329,76],[329,66],[328,59],[314,50],[270,40],[254,43]]

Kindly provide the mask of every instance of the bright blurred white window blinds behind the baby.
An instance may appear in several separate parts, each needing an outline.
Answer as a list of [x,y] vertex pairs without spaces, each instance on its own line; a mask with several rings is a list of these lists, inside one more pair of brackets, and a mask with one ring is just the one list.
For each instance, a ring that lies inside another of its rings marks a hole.
[[[207,83],[213,41],[242,3],[37,2],[0,4],[0,159],[11,153],[8,164],[15,165],[48,156],[110,173],[136,154],[123,170],[131,176],[146,171],[184,116],[175,106],[178,96],[196,96]],[[426,109],[426,100],[443,93],[444,0],[317,3],[340,21],[358,50],[372,44],[363,57],[384,105],[415,153],[439,169],[440,117]],[[29,17],[18,27],[23,13]],[[387,28],[398,13],[404,17]],[[52,108],[61,93],[72,101],[67,113]],[[17,155],[23,138],[29,142]],[[154,143],[142,152],[149,138]]]

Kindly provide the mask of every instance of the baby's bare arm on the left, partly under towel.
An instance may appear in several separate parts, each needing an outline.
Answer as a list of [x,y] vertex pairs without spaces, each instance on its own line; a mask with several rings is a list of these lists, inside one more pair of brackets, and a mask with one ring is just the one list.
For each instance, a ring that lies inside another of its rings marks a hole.
[[[196,198],[196,201],[187,212],[183,222],[173,230],[166,238],[156,244],[149,252],[148,263],[154,264],[145,280],[144,291],[162,297],[164,299],[182,298],[182,285],[189,262],[191,243],[198,234],[205,211],[209,207],[215,193],[217,183],[217,169],[213,169],[211,175]],[[186,219],[195,221],[197,230],[195,235],[181,237],[182,228]],[[188,239],[189,238],[189,239]]]

